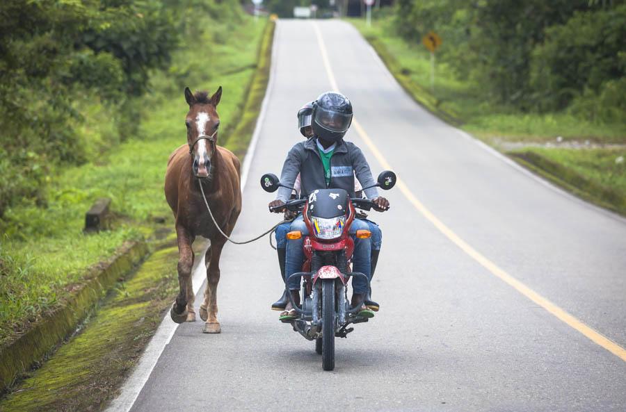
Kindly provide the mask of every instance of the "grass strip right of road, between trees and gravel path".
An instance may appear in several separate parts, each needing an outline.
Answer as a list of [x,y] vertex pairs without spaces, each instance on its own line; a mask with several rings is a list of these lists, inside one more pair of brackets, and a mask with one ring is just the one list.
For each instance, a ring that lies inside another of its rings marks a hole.
[[[430,56],[418,42],[407,42],[394,33],[390,20],[381,20],[367,27],[362,20],[353,20],[355,26],[371,42],[387,68],[399,83],[422,106],[447,122],[462,124],[463,129],[492,143],[506,140],[515,142],[554,142],[563,140],[591,140],[598,143],[623,143],[626,128],[623,120],[598,124],[574,112],[523,111],[512,105],[498,104],[486,99],[481,83],[460,76],[453,64],[438,60],[435,90],[430,84]],[[444,43],[447,38],[442,35]],[[620,83],[621,84],[621,83]],[[623,97],[618,86],[605,93],[604,99],[617,101]],[[588,102],[588,99],[584,101]],[[615,106],[613,106],[615,107]],[[593,110],[607,111],[611,106],[594,106]],[[580,110],[586,110],[581,107]],[[617,111],[617,109],[615,109]]]

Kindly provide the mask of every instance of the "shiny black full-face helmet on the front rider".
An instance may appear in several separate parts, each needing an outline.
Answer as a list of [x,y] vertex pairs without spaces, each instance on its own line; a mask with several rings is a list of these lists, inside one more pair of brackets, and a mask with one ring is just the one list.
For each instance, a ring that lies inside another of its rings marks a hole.
[[313,132],[318,138],[337,142],[352,123],[352,104],[341,93],[326,92],[313,102]]

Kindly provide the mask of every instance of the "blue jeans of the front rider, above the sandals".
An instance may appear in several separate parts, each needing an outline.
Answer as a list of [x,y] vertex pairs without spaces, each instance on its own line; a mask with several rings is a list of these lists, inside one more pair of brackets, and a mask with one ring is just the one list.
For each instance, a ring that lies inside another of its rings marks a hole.
[[[378,226],[377,226],[378,227]],[[353,252],[353,271],[361,272],[368,279],[371,278],[371,241],[367,239],[355,238],[355,233],[358,230],[369,230],[369,224],[360,219],[355,219],[350,226],[350,234],[354,239],[354,252]],[[380,230],[380,229],[378,229]],[[289,277],[291,274],[302,271],[302,265],[305,260],[303,252],[303,242],[305,236],[308,236],[309,230],[303,220],[302,215],[296,217],[296,220],[291,222],[289,231],[302,232],[302,238],[287,240],[287,261],[285,263],[285,276]],[[367,281],[362,277],[353,277],[352,288],[355,293],[367,293],[368,286]],[[300,290],[300,277],[293,277],[289,279],[289,290]]]

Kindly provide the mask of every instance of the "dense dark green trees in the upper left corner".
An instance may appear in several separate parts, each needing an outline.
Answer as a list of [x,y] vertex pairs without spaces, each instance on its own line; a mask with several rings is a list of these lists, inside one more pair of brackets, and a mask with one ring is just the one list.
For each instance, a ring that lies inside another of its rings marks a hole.
[[77,127],[94,97],[120,129],[134,124],[129,97],[176,45],[172,13],[158,0],[0,3],[0,216],[24,197],[44,201],[56,165],[86,160]]

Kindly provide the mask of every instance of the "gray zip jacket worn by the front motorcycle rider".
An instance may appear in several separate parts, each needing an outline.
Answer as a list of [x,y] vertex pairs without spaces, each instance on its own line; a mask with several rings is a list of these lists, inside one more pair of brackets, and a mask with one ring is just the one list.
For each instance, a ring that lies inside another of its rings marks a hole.
[[[282,165],[280,183],[284,186],[294,187],[296,177],[300,173],[302,195],[309,195],[316,189],[344,189],[354,197],[354,175],[356,174],[364,188],[372,186],[374,178],[365,160],[361,149],[352,142],[339,140],[335,151],[330,158],[330,184],[326,186],[324,166],[317,149],[316,138],[310,138],[305,142],[299,142],[291,147],[287,158]],[[276,199],[287,201],[291,195],[291,189],[278,188]],[[368,199],[378,197],[376,188],[365,189]]]

